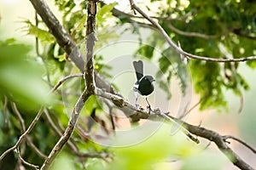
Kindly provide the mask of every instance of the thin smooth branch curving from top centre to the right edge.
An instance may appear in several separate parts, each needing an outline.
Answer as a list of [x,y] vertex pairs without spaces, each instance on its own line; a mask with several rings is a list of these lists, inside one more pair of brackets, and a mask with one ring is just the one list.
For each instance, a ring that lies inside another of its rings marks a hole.
[[177,51],[179,54],[183,54],[191,59],[201,59],[201,60],[206,60],[206,61],[213,61],[213,62],[242,62],[242,61],[247,61],[247,60],[253,60],[256,59],[256,56],[249,56],[246,58],[239,58],[239,59],[214,59],[214,58],[209,58],[209,57],[204,57],[204,56],[199,56],[199,55],[194,55],[194,54],[189,54],[183,49],[179,48],[175,42],[172,41],[172,39],[168,36],[166,31],[160,26],[160,24],[152,19],[151,17],[148,16],[148,14],[145,14],[141,8],[138,8],[137,5],[134,3],[133,0],[130,0],[131,3],[131,8],[137,10],[139,14],[142,14],[145,19],[147,19],[153,26],[155,26],[160,33],[166,38],[166,42],[169,43],[169,45]]

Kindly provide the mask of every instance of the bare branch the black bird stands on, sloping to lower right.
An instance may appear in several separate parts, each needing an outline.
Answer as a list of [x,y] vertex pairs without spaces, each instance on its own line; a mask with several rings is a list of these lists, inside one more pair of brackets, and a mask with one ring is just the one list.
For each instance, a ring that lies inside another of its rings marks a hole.
[[[133,111],[133,115],[131,115],[130,117],[135,117],[135,119],[148,119],[149,115],[148,115],[148,111],[143,110],[143,108],[139,108],[137,109],[136,106],[131,105],[129,102],[127,102],[125,99],[123,99],[120,96],[114,95],[114,94],[109,94],[106,93],[104,91],[102,91],[101,89],[96,89],[96,95],[99,95],[103,98],[109,99],[113,102],[114,105],[117,105],[121,108],[127,108],[130,111]],[[233,162],[234,165],[236,165],[236,167],[240,167],[241,169],[247,169],[247,170],[253,170],[253,167],[251,167],[250,165],[247,164],[247,162],[243,161],[241,159],[240,156],[238,156],[233,150],[230,149],[230,147],[226,144],[224,137],[221,136],[220,134],[212,131],[212,130],[208,130],[207,128],[204,127],[198,127],[198,126],[194,126],[194,125],[190,125],[187,122],[183,122],[180,119],[177,119],[176,117],[167,115],[166,113],[163,113],[160,110],[156,110],[156,111],[151,111],[154,115],[150,115],[152,120],[157,120],[157,118],[167,118],[167,120],[171,121],[171,122],[175,122],[178,125],[180,125],[183,129],[186,129],[186,131],[183,131],[187,136],[189,136],[189,138],[191,137],[190,134],[194,134],[196,136],[200,136],[201,138],[205,138],[208,139],[209,141],[214,142],[217,146],[218,149],[220,151],[222,151],[224,153],[225,156],[227,156],[231,162]],[[189,133],[186,133],[187,131],[189,131]],[[197,138],[195,138],[194,136],[192,136],[190,139],[198,141]]]

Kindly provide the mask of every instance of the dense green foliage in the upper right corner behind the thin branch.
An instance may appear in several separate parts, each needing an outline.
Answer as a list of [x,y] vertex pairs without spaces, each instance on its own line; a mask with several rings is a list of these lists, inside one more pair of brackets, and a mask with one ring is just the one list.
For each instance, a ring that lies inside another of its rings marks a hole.
[[[160,1],[151,2],[154,6],[154,3],[157,4]],[[188,53],[212,58],[241,58],[253,56],[256,53],[254,48],[256,41],[252,40],[255,39],[256,33],[253,6],[255,4],[250,1],[166,1],[166,8],[160,6],[156,14],[160,17],[160,24],[165,31],[174,41],[180,42],[183,50]],[[180,31],[196,32],[212,37],[203,39],[183,36],[173,31],[173,26]],[[149,43],[159,38],[153,36],[154,38],[149,39],[151,41]],[[164,45],[157,44],[157,41],[154,44],[157,48],[163,48]],[[168,48],[163,50],[167,51]],[[151,48],[147,49],[143,46],[139,52],[141,54],[153,53]],[[247,62],[251,67],[254,67],[254,63],[255,61]],[[166,62],[160,62],[160,68],[165,68],[162,71],[171,77],[172,72],[164,65]],[[203,100],[201,109],[225,107],[227,101],[224,97],[224,90],[231,90],[241,95],[243,89],[248,89],[247,82],[237,72],[239,64],[227,64],[223,67],[222,64],[193,59],[189,61],[189,66],[195,91],[201,95]],[[177,71],[179,71],[178,68]],[[230,76],[223,74],[227,71],[231,71]],[[182,77],[179,78],[183,82]]]

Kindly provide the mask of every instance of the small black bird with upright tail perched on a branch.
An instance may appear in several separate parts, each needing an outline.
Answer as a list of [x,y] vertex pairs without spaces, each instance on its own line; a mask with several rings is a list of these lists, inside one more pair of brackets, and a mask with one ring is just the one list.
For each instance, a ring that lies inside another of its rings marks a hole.
[[[132,89],[137,94],[146,96],[146,101],[148,104],[148,109],[149,109],[149,114],[150,114],[151,106],[148,102],[148,95],[152,94],[152,92],[154,92],[154,84],[153,84],[153,82],[155,81],[154,77],[143,75],[143,61],[142,60],[133,61],[133,67],[135,69],[137,82],[134,83]],[[136,100],[135,100],[136,105],[137,105],[137,98],[138,98],[138,96],[136,97]]]

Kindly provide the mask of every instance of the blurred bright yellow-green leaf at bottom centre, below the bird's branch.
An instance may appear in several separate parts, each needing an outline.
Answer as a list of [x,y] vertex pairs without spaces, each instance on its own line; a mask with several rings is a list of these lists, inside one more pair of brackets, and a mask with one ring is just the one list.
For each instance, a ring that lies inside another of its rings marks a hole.
[[[138,132],[137,135],[145,132]],[[116,157],[108,169],[154,169],[154,165],[172,156],[193,156],[197,148],[183,138],[181,133],[170,135],[170,125],[163,125],[145,141],[116,150]]]

